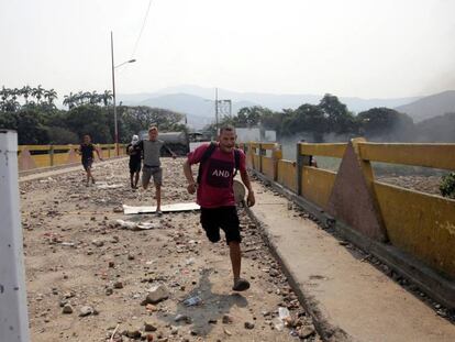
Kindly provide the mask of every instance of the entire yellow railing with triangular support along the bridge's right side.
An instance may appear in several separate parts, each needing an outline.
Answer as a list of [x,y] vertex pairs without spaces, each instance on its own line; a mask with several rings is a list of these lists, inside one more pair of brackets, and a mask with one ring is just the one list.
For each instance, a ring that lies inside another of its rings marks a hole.
[[[296,146],[296,162],[280,146],[244,145],[248,166],[292,190],[366,236],[389,242],[455,277],[455,200],[378,181],[371,162],[455,170],[455,144],[349,143]],[[267,155],[267,151],[274,151]],[[341,158],[337,173],[313,156]]]

